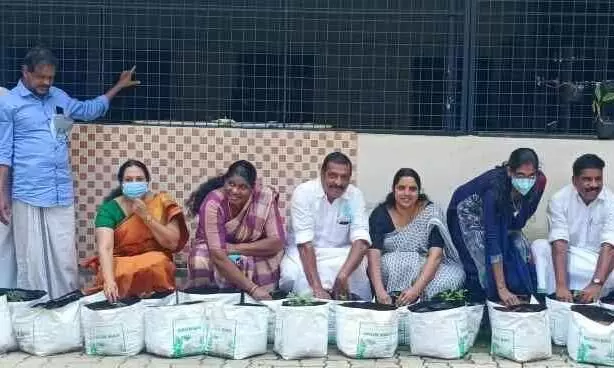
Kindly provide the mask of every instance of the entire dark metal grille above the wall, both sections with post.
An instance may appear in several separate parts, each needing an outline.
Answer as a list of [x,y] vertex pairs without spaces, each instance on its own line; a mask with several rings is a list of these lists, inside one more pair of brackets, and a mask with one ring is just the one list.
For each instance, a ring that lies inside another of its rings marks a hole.
[[108,122],[593,132],[610,0],[0,0],[0,85],[38,43],[78,98],[137,65]]

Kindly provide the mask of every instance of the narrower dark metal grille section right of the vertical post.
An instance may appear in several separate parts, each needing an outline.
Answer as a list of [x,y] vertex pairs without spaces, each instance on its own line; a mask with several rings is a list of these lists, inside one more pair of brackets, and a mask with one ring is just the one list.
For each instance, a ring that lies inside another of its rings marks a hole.
[[595,82],[614,78],[611,0],[482,0],[474,129],[592,134]]

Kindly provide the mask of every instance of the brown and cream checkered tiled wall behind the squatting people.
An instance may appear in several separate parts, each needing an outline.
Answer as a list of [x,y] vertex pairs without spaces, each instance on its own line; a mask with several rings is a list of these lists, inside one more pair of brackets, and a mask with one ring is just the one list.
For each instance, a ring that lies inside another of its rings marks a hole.
[[353,161],[357,156],[357,136],[346,132],[84,124],[73,129],[71,145],[80,259],[95,254],[96,208],[117,186],[117,169],[126,159],[143,161],[152,189],[169,191],[181,204],[206,178],[249,160],[262,182],[280,191],[285,213],[292,190],[317,177],[327,153],[340,150]]

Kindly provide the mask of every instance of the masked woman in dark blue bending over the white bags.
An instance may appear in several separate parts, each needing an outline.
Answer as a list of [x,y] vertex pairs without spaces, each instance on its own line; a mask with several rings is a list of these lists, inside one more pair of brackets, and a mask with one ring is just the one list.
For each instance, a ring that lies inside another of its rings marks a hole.
[[535,292],[530,244],[522,234],[546,187],[539,159],[530,148],[458,187],[447,222],[466,272],[466,287],[477,298],[518,304]]

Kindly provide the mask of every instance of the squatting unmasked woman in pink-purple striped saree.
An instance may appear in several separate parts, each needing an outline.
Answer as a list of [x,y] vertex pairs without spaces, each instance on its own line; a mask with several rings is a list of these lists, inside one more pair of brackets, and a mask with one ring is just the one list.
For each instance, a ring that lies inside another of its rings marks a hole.
[[277,200],[272,188],[256,184],[256,168],[247,161],[192,193],[188,207],[199,221],[188,257],[189,286],[239,288],[270,299],[284,244]]

